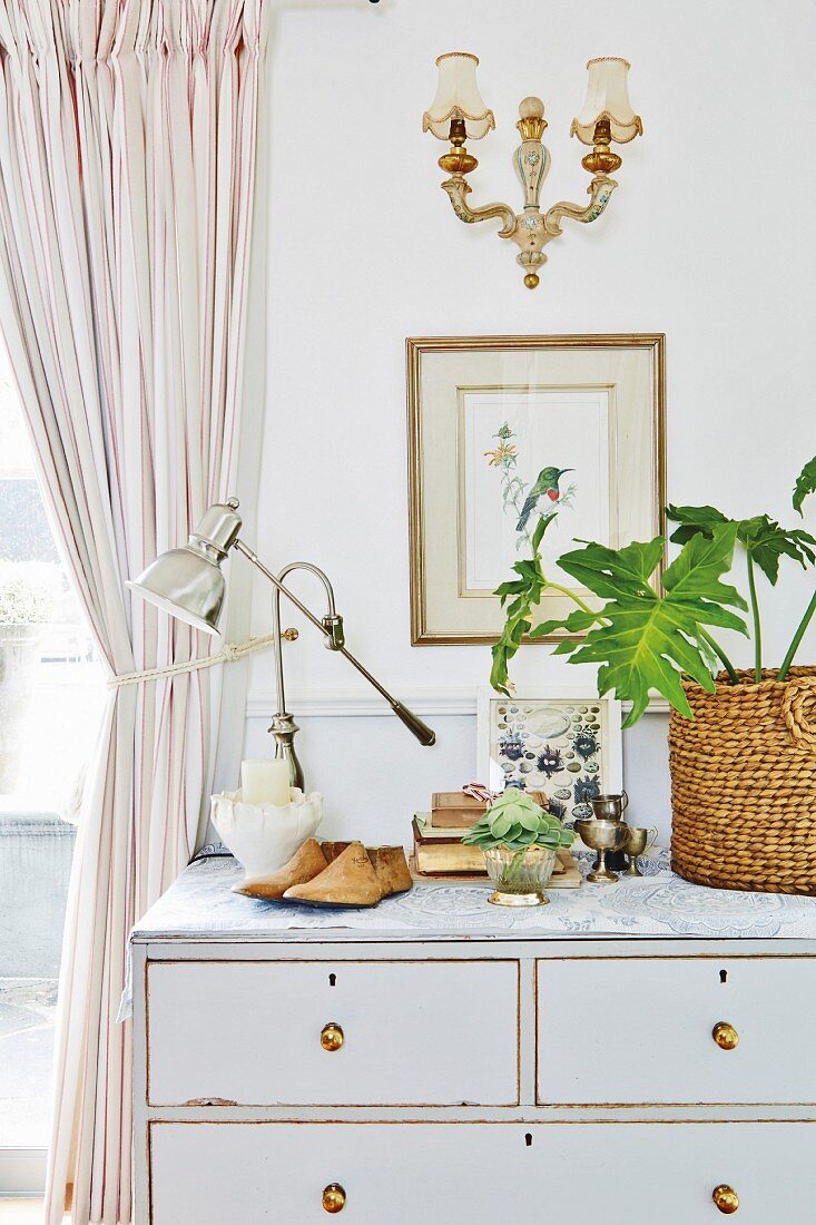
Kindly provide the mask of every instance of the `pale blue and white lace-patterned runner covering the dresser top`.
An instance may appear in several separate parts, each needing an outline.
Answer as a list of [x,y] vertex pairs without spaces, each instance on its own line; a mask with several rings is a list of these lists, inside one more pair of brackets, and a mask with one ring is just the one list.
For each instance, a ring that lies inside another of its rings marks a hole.
[[[588,860],[578,858],[586,872]],[[738,893],[689,884],[669,867],[668,850],[643,864],[643,878],[553,889],[548,907],[507,909],[488,903],[489,882],[430,881],[370,909],[308,909],[232,892],[241,871],[232,858],[192,864],[136,925],[134,937],[282,938],[359,931],[396,940],[429,936],[697,936],[712,940],[816,938],[816,898]]]

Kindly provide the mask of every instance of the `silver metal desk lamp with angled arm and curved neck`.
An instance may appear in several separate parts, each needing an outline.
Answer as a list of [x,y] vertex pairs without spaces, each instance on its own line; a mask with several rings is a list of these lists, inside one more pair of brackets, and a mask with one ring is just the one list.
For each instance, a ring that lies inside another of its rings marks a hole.
[[[205,633],[218,633],[218,620],[224,603],[225,582],[221,566],[230,549],[236,549],[274,587],[272,600],[272,628],[274,649],[274,673],[277,680],[278,710],[272,718],[270,731],[274,736],[274,756],[282,757],[289,763],[289,780],[292,786],[304,789],[303,769],[295,753],[294,737],[298,724],[287,710],[285,690],[283,686],[283,652],[281,635],[281,595],[285,595],[297,609],[299,609],[308,621],[320,630],[323,636],[323,644],[328,650],[337,650],[346,655],[349,664],[357,668],[358,673],[365,676],[369,685],[372,685],[377,693],[381,693],[393,713],[401,719],[409,731],[414,734],[420,745],[433,745],[436,742],[436,733],[418,719],[408,707],[403,706],[396,697],[380,685],[371,673],[355,659],[346,647],[343,635],[343,619],[334,608],[334,593],[322,570],[310,565],[308,561],[294,561],[284,566],[279,575],[273,575],[267,570],[243,540],[238,533],[241,529],[241,517],[238,513],[238,499],[230,497],[227,503],[216,502],[206,512],[196,530],[190,535],[187,543],[181,549],[169,549],[152,561],[147,570],[138,578],[127,583],[131,590],[137,592],[142,599],[157,608],[164,609],[172,616],[186,621],[196,630]],[[328,609],[322,617],[315,616],[310,609],[294,595],[283,579],[293,570],[308,570],[315,575],[326,588]]]

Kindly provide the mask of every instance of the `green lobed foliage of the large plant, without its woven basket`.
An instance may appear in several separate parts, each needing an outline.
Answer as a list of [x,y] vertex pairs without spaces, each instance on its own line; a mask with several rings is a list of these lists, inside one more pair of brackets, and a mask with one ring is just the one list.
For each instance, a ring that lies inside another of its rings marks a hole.
[[[801,513],[805,499],[816,492],[816,457],[796,479],[793,505]],[[750,611],[755,642],[756,680],[762,677],[762,625],[757,594],[757,570],[776,587],[783,557],[801,566],[816,562],[816,539],[804,529],[787,529],[767,514],[731,519],[711,506],[669,506],[669,518],[678,524],[671,540],[681,550],[663,576],[658,571],[665,540],[635,541],[622,549],[609,549],[581,541],[559,559],[559,566],[580,587],[598,600],[592,609],[567,588],[553,583],[544,573],[539,545],[548,518],[538,524],[534,556],[517,562],[517,578],[496,592],[506,605],[505,631],[493,650],[491,684],[501,693],[511,692],[508,662],[523,637],[542,638],[565,635],[555,654],[571,663],[598,665],[598,691],[614,691],[632,709],[626,725],[637,722],[657,690],[675,709],[691,717],[682,688],[684,676],[692,677],[708,692],[716,691],[716,675],[722,668],[733,684],[740,677],[712,631],[735,630],[747,635],[740,612],[749,605],[735,587],[724,582],[736,549],[745,554]],[[576,608],[565,617],[532,627],[534,609],[548,588],[571,595]],[[807,625],[816,615],[816,593],[796,627],[778,673],[784,680]],[[583,635],[576,639],[575,635]]]

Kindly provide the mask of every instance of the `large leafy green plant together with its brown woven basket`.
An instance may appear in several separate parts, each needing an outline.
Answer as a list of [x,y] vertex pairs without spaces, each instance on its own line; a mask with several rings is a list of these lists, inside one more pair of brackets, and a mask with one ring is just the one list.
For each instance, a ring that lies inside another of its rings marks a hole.
[[[814,491],[816,458],[796,479],[799,513]],[[662,582],[663,537],[622,549],[583,543],[559,566],[597,598],[595,606],[573,594],[572,612],[533,628],[533,609],[556,587],[539,550],[556,514],[557,507],[542,516],[533,556],[517,562],[513,579],[496,592],[506,620],[493,650],[494,688],[510,691],[508,664],[526,635],[561,635],[556,654],[597,665],[599,692],[631,702],[625,726],[657,690],[671,708],[675,871],[720,888],[815,894],[816,821],[803,816],[803,800],[816,780],[816,668],[794,666],[794,659],[816,594],[778,668],[763,665],[760,612],[761,576],[776,587],[784,559],[812,566],[814,537],[767,514],[731,519],[711,506],[669,506],[680,551]],[[749,601],[725,581],[738,562],[746,567]],[[718,641],[723,628],[752,637],[752,668],[734,668]]]

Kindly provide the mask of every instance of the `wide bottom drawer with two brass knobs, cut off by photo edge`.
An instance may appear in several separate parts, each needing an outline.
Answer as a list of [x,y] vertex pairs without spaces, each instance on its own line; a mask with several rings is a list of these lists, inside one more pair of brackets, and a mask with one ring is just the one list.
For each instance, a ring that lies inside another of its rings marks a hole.
[[[812,1225],[814,1123],[153,1123],[151,1225]],[[339,1194],[339,1193],[337,1193]]]

